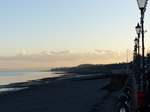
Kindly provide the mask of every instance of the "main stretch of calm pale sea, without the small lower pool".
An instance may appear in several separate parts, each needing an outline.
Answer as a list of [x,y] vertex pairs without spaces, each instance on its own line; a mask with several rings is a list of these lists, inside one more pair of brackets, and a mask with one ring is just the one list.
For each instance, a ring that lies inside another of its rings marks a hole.
[[16,82],[27,82],[49,77],[59,77],[63,74],[56,72],[0,72],[0,85],[6,85]]

